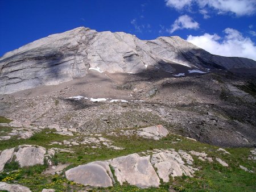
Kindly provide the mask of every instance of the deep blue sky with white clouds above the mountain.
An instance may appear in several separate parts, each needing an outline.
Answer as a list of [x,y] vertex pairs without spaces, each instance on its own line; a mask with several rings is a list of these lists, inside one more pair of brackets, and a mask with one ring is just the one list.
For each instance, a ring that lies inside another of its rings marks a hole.
[[256,60],[256,0],[0,0],[0,56],[85,26],[139,39],[180,36],[207,51]]

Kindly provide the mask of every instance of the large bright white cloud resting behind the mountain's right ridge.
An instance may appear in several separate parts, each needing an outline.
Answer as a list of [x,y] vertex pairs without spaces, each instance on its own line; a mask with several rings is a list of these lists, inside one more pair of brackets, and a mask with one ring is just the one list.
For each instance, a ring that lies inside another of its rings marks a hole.
[[226,35],[223,38],[217,34],[189,35],[187,41],[214,55],[246,57],[256,61],[256,46],[249,37],[232,28],[226,28],[224,32]]

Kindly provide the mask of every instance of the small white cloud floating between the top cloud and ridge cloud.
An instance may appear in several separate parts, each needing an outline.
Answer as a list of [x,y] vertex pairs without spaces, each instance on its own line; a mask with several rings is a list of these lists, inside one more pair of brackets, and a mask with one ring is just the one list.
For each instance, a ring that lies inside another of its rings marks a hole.
[[181,15],[175,20],[174,24],[172,24],[170,30],[167,31],[172,34],[174,31],[182,30],[184,28],[196,30],[199,28],[199,23],[195,22],[195,20],[188,15]]

